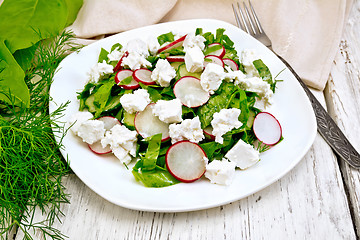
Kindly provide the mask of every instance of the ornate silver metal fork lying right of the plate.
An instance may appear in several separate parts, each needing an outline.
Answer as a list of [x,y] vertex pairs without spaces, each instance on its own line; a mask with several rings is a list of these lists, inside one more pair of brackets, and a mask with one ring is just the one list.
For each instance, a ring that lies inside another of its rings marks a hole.
[[[332,149],[348,164],[350,164],[354,168],[360,168],[360,154],[355,150],[355,148],[351,145],[349,140],[342,133],[340,128],[336,125],[334,120],[330,117],[330,115],[326,112],[326,110],[322,107],[320,102],[315,98],[315,96],[311,93],[306,84],[301,80],[299,75],[294,71],[294,69],[286,62],[281,56],[279,56],[272,49],[271,40],[264,32],[261,27],[260,21],[256,16],[255,10],[251,1],[248,1],[248,5],[243,2],[243,7],[241,7],[240,3],[237,2],[237,8],[234,4],[232,4],[236,23],[239,28],[259,40],[266,47],[268,47],[285,65],[286,67],[294,74],[296,79],[299,81],[300,85],[303,87],[305,93],[310,99],[312,107],[314,108],[317,129],[318,132],[323,136],[326,142],[332,147]],[[249,10],[250,9],[250,10]]]

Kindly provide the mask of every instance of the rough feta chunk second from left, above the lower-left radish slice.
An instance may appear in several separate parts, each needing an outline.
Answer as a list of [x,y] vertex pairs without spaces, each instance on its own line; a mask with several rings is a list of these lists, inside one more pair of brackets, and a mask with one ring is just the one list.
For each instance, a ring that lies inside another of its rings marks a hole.
[[100,120],[86,120],[77,129],[77,135],[88,144],[100,141],[105,135],[105,125]]

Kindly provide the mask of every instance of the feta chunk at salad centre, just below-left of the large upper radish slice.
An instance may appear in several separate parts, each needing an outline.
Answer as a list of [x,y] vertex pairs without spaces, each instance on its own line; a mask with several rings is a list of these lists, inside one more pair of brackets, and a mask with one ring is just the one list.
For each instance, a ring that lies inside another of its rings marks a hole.
[[165,123],[178,123],[182,121],[182,104],[177,98],[169,101],[157,101],[152,108],[152,112]]

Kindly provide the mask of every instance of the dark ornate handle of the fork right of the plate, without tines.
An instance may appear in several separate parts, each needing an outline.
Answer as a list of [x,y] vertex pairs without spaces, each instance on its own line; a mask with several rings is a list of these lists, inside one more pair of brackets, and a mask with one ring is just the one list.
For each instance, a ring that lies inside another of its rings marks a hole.
[[325,141],[330,145],[330,147],[348,164],[352,167],[359,169],[360,168],[360,154],[355,150],[351,145],[349,140],[345,137],[344,133],[336,125],[335,121],[330,117],[326,112],[320,102],[312,94],[310,89],[306,84],[301,80],[299,75],[295,70],[290,66],[290,64],[285,61],[281,56],[275,53],[278,58],[287,66],[287,68],[294,74],[296,79],[299,81],[300,85],[303,87],[305,93],[310,99],[311,105],[314,108],[317,128],[321,136]]

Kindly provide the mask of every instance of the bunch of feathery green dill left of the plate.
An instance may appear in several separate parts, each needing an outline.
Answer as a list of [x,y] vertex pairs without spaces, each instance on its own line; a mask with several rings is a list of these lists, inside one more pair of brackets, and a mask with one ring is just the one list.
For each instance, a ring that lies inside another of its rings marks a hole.
[[[30,231],[37,230],[44,239],[63,239],[65,236],[52,227],[63,213],[62,203],[68,203],[62,178],[70,173],[59,149],[66,134],[59,121],[66,105],[49,113],[49,88],[60,61],[69,49],[73,35],[63,32],[51,41],[38,43],[25,82],[30,91],[30,107],[1,103],[0,108],[0,237],[8,239],[9,232],[21,230],[24,239],[32,239]],[[0,69],[1,71],[1,69]],[[1,92],[11,96],[6,92]],[[13,101],[14,102],[14,101]],[[59,143],[54,133],[60,136]],[[35,207],[45,215],[34,222]]]

